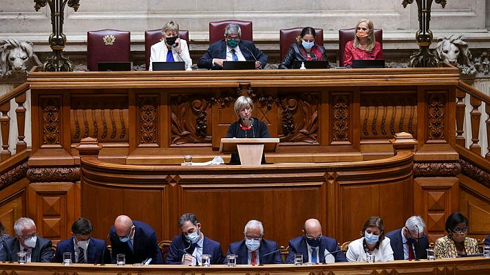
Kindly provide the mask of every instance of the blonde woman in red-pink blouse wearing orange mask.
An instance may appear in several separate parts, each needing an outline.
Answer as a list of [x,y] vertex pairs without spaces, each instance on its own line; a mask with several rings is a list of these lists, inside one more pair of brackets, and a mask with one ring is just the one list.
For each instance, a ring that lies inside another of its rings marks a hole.
[[370,19],[357,22],[354,40],[345,45],[343,65],[351,66],[354,59],[384,59],[381,43],[374,39],[374,24]]

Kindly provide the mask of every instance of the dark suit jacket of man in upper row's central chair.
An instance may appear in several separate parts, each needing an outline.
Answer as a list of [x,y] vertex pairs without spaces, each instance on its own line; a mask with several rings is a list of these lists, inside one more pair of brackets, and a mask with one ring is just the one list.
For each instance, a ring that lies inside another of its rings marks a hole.
[[[266,67],[268,61],[267,54],[264,54],[261,50],[257,49],[251,41],[240,40],[238,47],[246,61],[255,61],[255,58],[257,58],[257,61],[260,61],[262,64],[262,69]],[[224,41],[224,39],[209,45],[208,50],[199,59],[198,67],[202,69],[222,69],[213,64],[213,58],[226,59],[226,49],[226,41]],[[255,58],[253,58],[254,56]]]

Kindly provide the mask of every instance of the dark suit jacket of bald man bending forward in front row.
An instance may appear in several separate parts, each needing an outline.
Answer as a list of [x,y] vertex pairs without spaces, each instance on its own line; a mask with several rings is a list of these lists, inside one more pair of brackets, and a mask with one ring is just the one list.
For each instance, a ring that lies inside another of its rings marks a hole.
[[129,243],[119,241],[114,225],[111,226],[109,233],[112,245],[111,263],[116,263],[117,254],[125,254],[126,263],[142,263],[142,261],[151,258],[151,265],[162,265],[162,251],[158,246],[155,230],[142,221],[133,221],[133,225],[136,226],[133,243],[134,252],[131,252]]

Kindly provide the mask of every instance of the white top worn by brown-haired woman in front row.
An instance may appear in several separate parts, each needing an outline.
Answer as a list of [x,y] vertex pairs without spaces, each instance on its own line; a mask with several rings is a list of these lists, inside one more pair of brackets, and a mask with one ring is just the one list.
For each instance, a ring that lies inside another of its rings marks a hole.
[[[366,261],[366,252],[363,247],[364,237],[361,239],[356,239],[349,244],[347,250],[347,260],[350,262],[363,262]],[[374,261],[393,261],[393,250],[392,245],[390,245],[390,238],[385,236],[385,239],[381,241],[379,249],[374,248],[372,251],[374,254]]]

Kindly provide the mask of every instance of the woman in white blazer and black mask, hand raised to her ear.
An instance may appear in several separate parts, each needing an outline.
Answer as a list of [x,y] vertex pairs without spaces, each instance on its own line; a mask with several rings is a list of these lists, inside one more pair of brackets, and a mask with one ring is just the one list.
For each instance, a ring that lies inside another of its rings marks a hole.
[[[189,54],[187,41],[180,39],[178,36],[179,25],[173,23],[173,21],[165,23],[162,28],[162,34],[163,41],[151,46],[149,71],[153,70],[151,63],[156,61],[184,61],[186,69],[190,69],[192,67],[191,55]],[[169,51],[171,51],[171,56]]]

